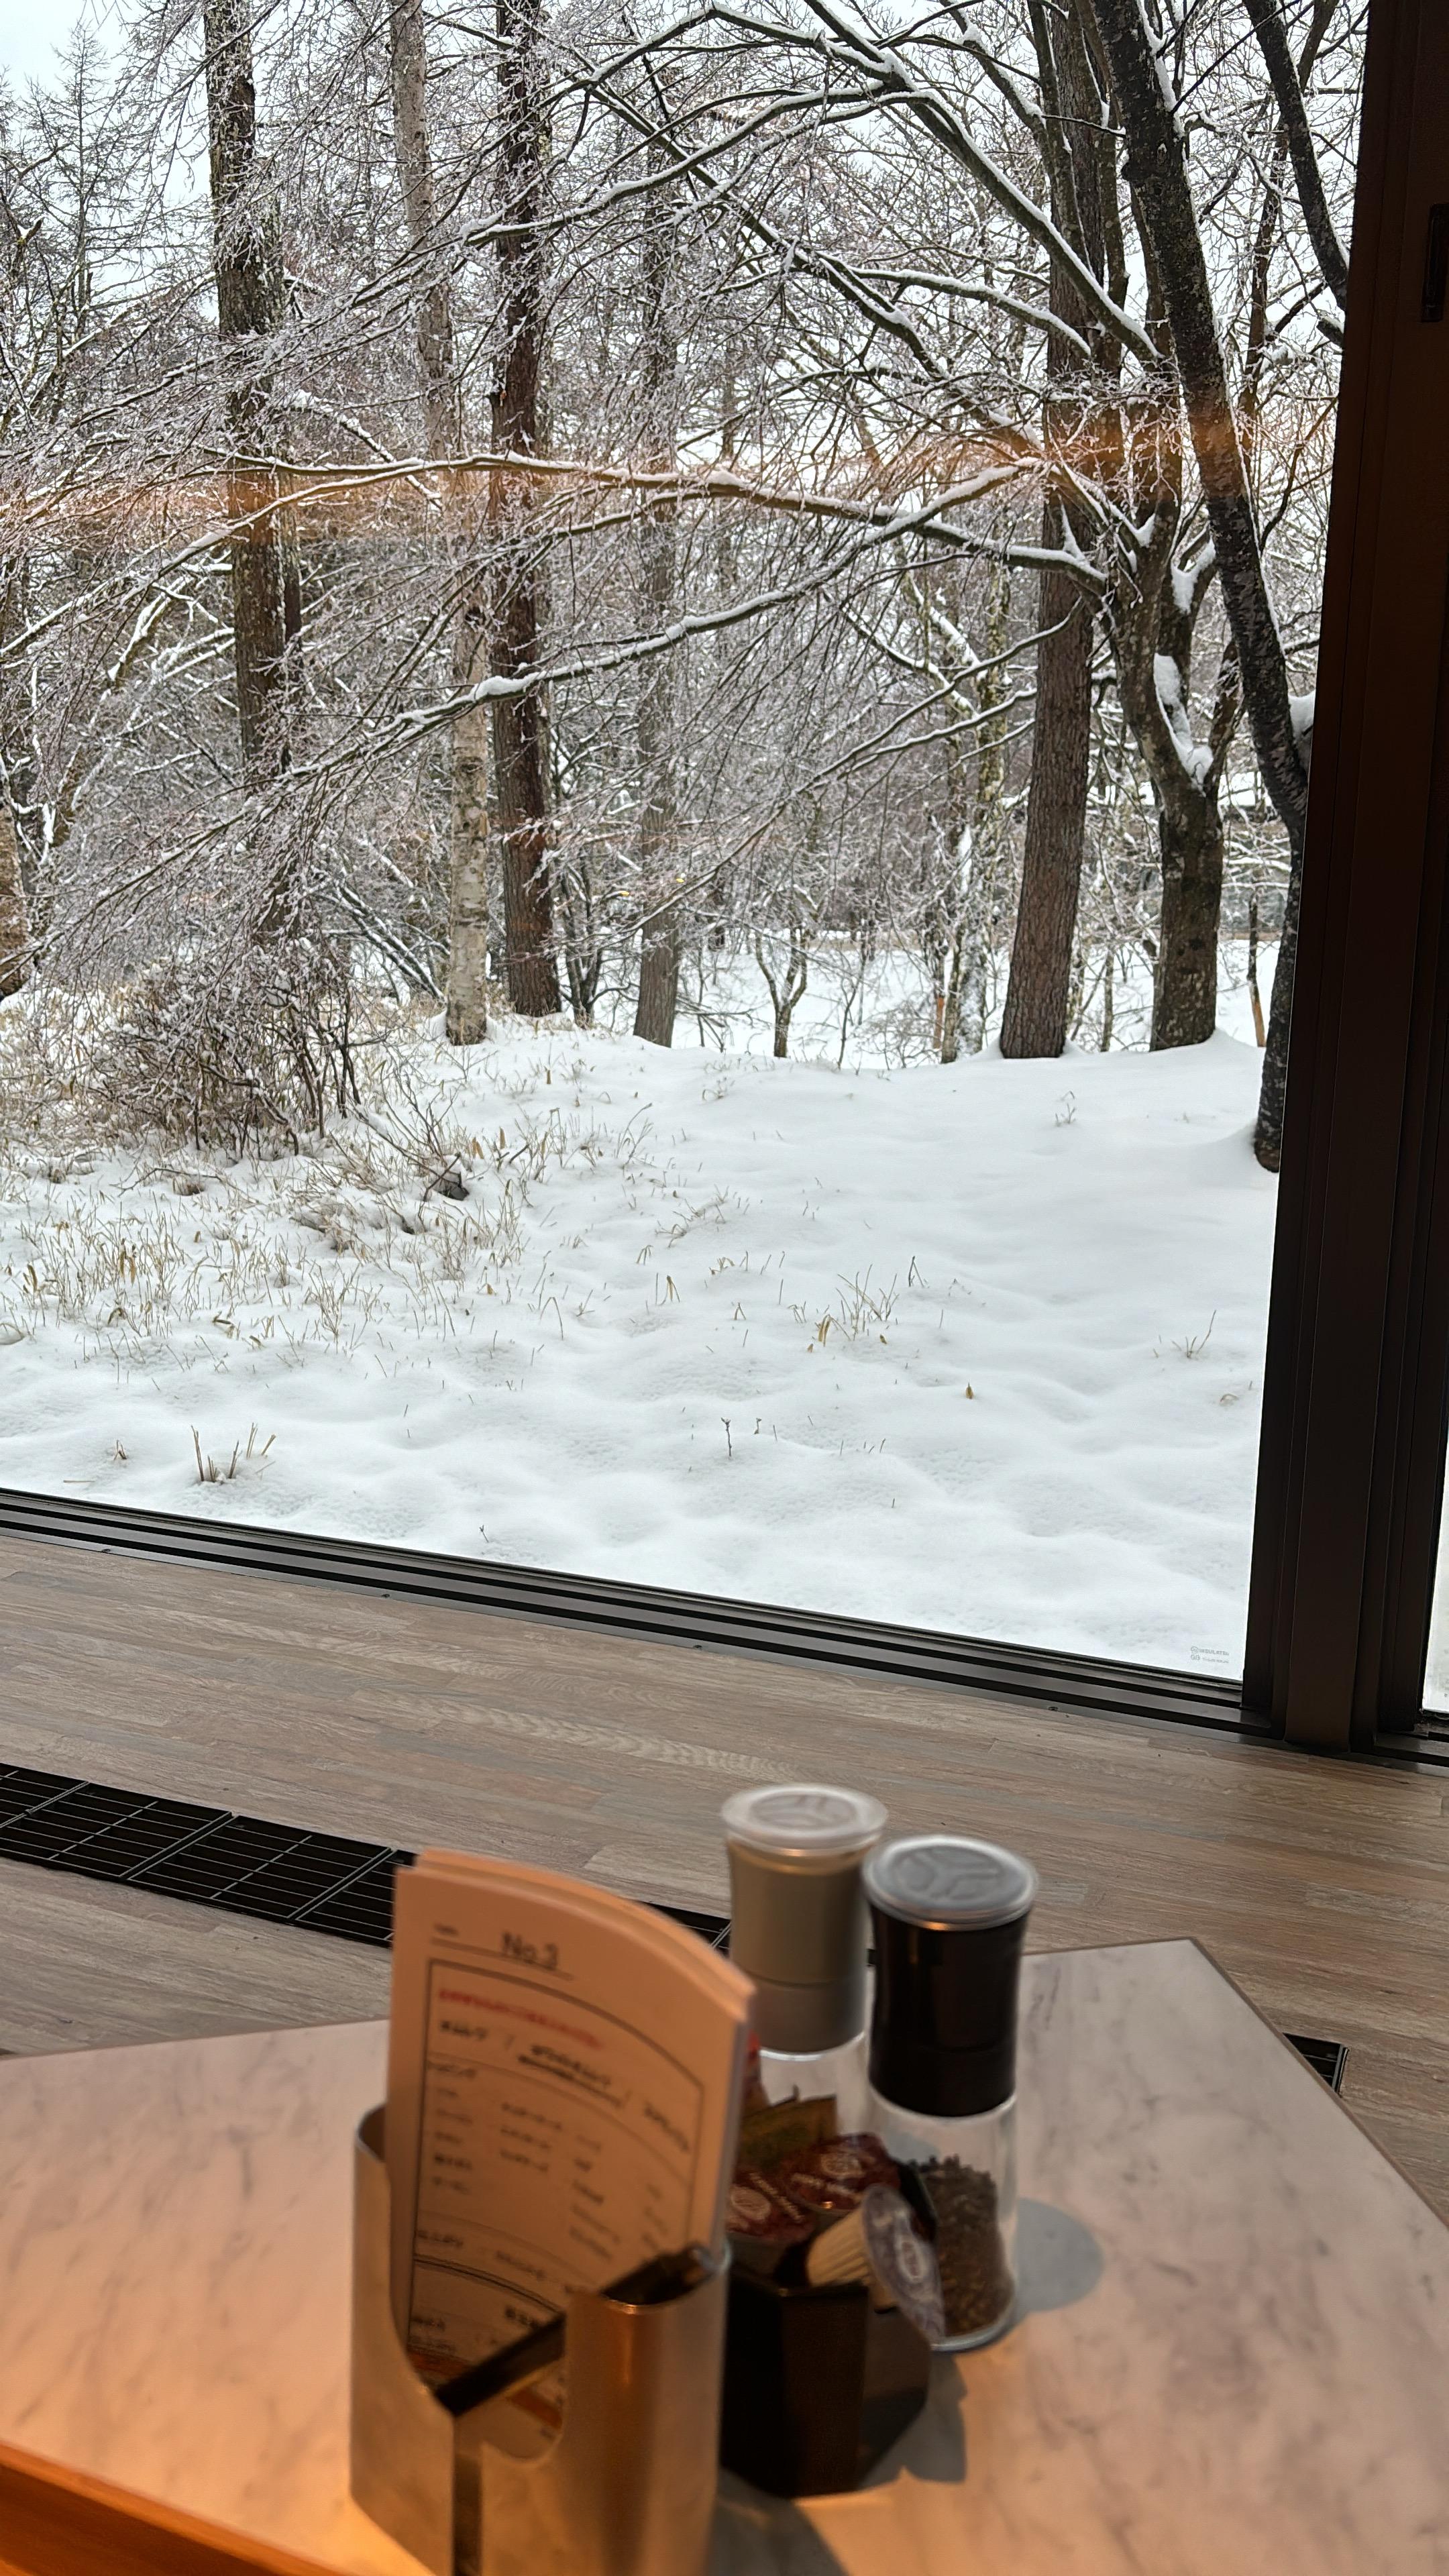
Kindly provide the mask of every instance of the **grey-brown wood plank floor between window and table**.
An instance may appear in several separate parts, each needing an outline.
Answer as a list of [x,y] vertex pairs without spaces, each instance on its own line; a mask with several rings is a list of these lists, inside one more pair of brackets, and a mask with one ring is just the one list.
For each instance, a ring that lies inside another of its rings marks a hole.
[[[719,1801],[825,1777],[1016,1844],[1042,1950],[1194,1935],[1449,2215],[1449,1775],[451,1605],[0,1540],[0,1759],[724,1906]],[[0,2048],[348,2020],[387,1963],[0,1868]]]

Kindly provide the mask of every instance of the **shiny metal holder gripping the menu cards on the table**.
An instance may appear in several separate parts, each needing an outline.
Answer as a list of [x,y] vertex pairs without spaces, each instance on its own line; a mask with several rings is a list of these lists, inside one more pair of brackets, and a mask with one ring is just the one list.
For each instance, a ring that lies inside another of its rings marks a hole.
[[727,2264],[637,2308],[575,2290],[567,2409],[516,2460],[407,2360],[389,2295],[382,2107],[356,2133],[351,2486],[433,2576],[704,2576],[719,2458]]

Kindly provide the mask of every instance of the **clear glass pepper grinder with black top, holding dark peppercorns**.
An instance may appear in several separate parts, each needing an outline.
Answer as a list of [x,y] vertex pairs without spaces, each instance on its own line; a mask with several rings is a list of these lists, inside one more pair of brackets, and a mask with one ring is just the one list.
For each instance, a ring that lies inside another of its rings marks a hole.
[[993,1842],[910,1834],[866,1860],[877,1984],[871,2128],[936,2215],[941,2352],[1016,2306],[1016,1991],[1036,1870]]

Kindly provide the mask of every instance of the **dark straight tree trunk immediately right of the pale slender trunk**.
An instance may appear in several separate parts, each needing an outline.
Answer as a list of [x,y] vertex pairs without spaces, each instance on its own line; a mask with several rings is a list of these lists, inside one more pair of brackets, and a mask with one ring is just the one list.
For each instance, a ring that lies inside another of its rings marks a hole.
[[[541,0],[498,0],[498,242],[503,374],[492,389],[492,446],[539,456],[544,374],[544,165],[547,106]],[[531,531],[531,492],[495,474],[492,533],[500,549],[492,595],[492,672],[523,680],[539,667],[547,613],[544,549]],[[508,999],[531,1020],[559,1010],[554,904],[549,889],[549,719],[539,688],[492,701],[492,770],[503,840],[503,948]]]

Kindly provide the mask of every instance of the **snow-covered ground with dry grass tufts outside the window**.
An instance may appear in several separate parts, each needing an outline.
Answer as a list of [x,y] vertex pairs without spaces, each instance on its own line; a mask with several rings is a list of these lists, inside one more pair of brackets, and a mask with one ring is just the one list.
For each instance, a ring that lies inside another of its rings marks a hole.
[[0,1481],[1227,1674],[1258,1069],[428,1025],[309,1154],[0,1144]]

